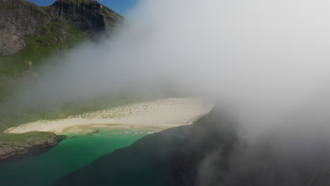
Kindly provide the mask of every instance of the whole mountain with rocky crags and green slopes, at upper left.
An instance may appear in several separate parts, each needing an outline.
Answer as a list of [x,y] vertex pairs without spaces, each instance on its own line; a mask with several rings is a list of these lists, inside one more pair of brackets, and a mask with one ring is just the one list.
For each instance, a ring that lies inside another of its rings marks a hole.
[[0,0],[0,73],[17,73],[42,63],[84,39],[109,35],[123,17],[92,0],[58,0],[37,6]]

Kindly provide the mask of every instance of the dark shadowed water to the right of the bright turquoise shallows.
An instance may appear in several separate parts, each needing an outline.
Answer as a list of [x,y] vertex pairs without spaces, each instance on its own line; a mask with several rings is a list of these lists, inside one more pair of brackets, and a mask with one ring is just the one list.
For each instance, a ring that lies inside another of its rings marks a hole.
[[148,135],[130,147],[102,156],[56,185],[171,186],[171,161],[185,128],[188,126]]

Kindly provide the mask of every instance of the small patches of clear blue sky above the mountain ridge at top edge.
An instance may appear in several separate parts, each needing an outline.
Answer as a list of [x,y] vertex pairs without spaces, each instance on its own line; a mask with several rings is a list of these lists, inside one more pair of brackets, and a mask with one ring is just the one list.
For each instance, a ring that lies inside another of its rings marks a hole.
[[[56,0],[27,0],[35,3],[39,6],[49,6],[53,4]],[[131,8],[134,8],[138,0],[97,0],[100,4],[108,6],[116,13],[125,16]]]

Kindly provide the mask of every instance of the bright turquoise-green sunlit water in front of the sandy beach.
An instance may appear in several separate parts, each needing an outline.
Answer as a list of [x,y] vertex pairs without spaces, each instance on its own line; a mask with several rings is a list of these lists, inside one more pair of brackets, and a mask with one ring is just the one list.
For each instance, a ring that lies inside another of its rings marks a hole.
[[87,166],[115,149],[133,144],[148,130],[98,130],[92,135],[68,135],[44,154],[0,164],[1,185],[52,185],[64,175]]

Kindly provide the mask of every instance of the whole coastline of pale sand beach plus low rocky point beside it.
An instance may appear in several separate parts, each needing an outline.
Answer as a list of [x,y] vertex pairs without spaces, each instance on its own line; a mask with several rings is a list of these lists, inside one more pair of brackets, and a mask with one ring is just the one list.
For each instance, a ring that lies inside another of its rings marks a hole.
[[[32,123],[8,128],[5,133],[28,135],[28,142],[0,142],[0,163],[17,161],[42,154],[56,146],[65,136],[72,133],[87,135],[106,130],[151,130],[160,132],[168,128],[190,125],[207,115],[213,104],[195,98],[169,98],[137,104],[118,106],[112,109],[82,113],[57,120],[38,120]],[[38,137],[42,132],[44,137]],[[29,140],[30,139],[30,140]],[[25,139],[26,140],[26,139]]]

